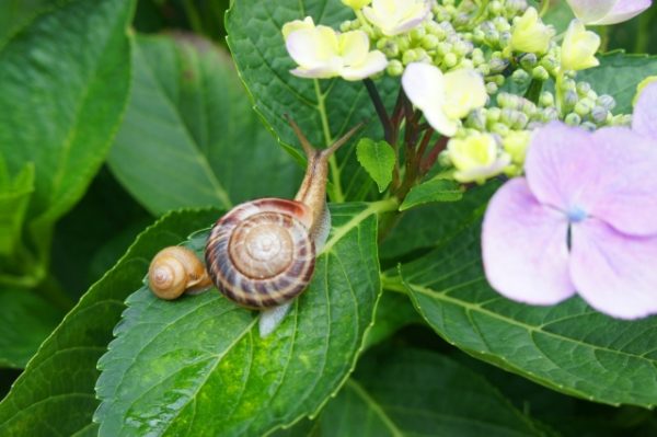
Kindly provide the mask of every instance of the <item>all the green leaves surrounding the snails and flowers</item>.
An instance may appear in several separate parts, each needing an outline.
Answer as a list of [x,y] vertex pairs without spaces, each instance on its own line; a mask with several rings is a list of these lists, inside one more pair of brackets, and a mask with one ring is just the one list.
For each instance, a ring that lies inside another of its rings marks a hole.
[[[427,179],[378,244],[387,205],[365,200],[389,181],[358,141],[311,287],[272,337],[216,292],[154,299],[158,250],[200,251],[231,206],[293,195],[284,114],[324,146],[373,113],[360,84],[285,73],[280,25],[336,24],[339,1],[228,7],[0,1],[0,435],[657,434],[656,318],[494,294],[477,235],[495,183]],[[657,74],[656,11],[611,27],[583,74],[619,112]]]

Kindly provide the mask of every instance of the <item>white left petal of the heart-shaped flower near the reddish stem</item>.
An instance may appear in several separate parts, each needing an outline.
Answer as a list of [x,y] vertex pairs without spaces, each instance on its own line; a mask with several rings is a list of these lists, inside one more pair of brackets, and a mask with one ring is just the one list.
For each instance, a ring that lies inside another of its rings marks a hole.
[[449,119],[442,110],[446,102],[445,76],[438,67],[420,62],[408,64],[402,77],[402,85],[408,100],[422,110],[434,129],[448,137],[457,133],[458,120]]

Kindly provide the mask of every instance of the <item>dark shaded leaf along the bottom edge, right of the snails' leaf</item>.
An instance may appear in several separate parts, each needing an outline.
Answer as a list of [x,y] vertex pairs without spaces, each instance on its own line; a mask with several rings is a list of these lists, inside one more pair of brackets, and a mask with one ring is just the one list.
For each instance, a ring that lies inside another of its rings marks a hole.
[[367,354],[319,418],[322,436],[543,436],[484,378],[439,354]]

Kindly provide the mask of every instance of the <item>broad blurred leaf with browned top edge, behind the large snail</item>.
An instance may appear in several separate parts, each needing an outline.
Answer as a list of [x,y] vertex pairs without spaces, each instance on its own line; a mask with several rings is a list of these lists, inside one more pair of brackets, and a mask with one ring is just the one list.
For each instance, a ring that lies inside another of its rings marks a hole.
[[132,62],[108,162],[148,210],[293,195],[300,169],[251,108],[227,53],[191,34],[141,36]]

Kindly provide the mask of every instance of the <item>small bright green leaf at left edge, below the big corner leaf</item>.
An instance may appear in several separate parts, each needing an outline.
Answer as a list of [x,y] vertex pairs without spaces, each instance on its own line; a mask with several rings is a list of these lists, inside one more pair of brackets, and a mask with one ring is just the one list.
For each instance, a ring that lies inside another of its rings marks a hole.
[[0,154],[0,256],[11,255],[21,241],[23,219],[33,192],[34,164],[26,163],[12,180]]

